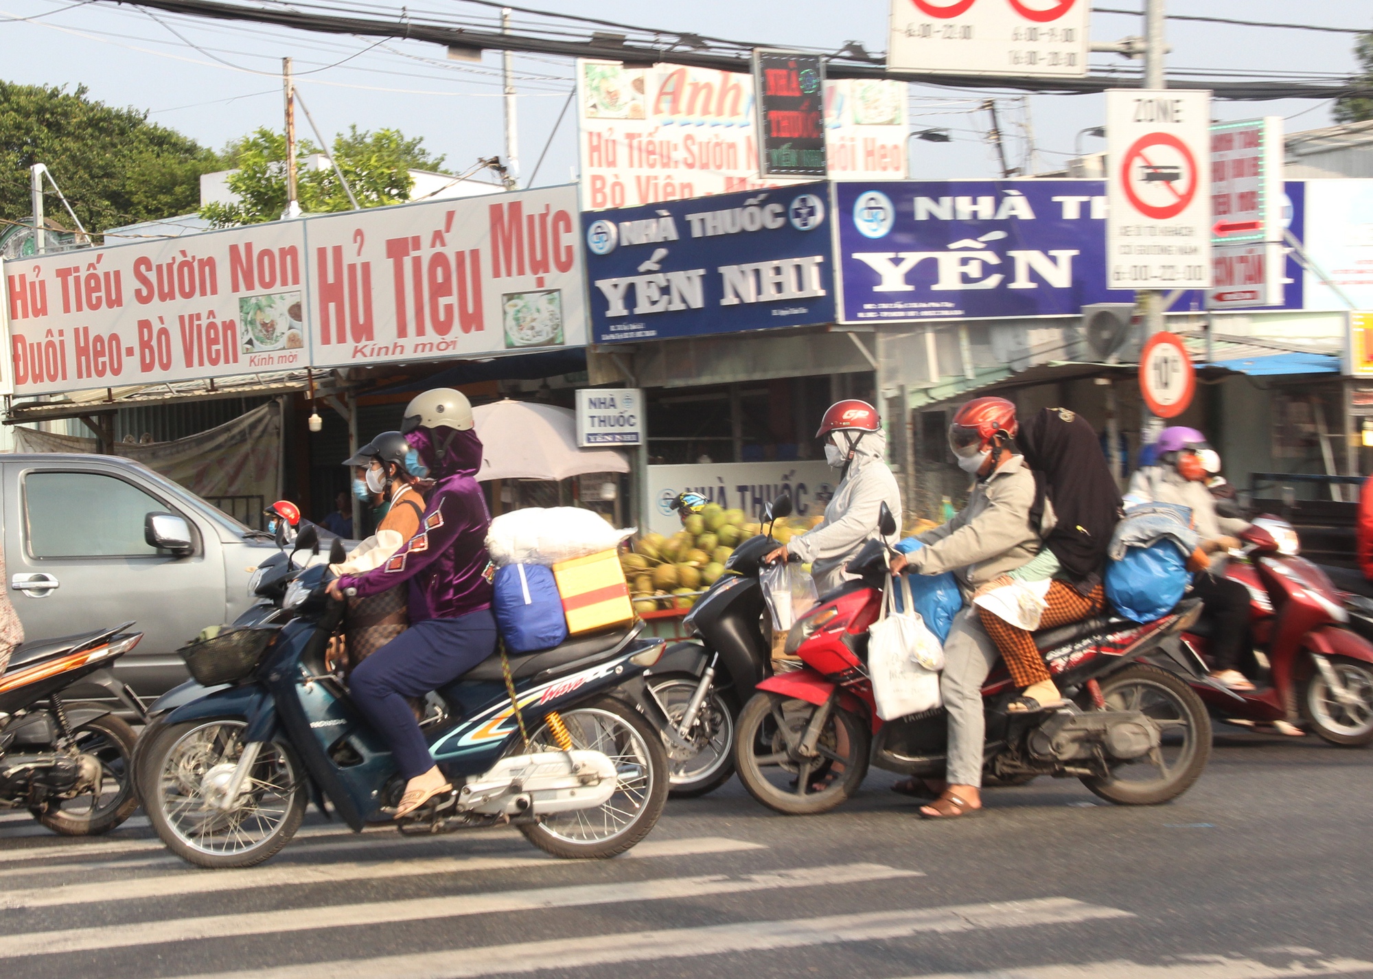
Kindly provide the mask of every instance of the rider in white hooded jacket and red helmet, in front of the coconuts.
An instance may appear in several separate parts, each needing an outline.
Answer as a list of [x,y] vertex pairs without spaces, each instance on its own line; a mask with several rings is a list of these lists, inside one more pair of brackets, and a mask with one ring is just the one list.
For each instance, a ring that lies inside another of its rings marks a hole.
[[[853,577],[844,566],[877,535],[877,512],[883,503],[901,527],[901,490],[884,461],[887,437],[881,433],[877,409],[866,401],[831,405],[816,438],[825,439],[825,461],[840,472],[839,486],[825,507],[825,519],[765,555],[763,562],[811,562],[816,589],[825,595]],[[895,542],[894,534],[887,544]]]

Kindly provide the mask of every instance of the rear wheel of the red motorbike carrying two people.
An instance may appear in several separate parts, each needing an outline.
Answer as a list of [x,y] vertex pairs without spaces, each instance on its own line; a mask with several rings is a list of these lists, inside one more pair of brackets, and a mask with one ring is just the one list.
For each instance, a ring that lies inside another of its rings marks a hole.
[[[1163,729],[1162,744],[1116,763],[1107,779],[1079,776],[1082,784],[1118,806],[1156,806],[1186,792],[1211,758],[1211,715],[1196,691],[1166,670],[1135,663],[1103,680],[1101,695],[1107,710],[1138,710],[1152,718]],[[1145,776],[1145,768],[1157,774]]]

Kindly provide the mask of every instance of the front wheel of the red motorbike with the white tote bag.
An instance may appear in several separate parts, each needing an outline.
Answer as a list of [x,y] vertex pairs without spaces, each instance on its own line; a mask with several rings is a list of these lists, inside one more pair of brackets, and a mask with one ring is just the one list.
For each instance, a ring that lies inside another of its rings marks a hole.
[[868,774],[868,725],[838,706],[821,728],[818,758],[796,752],[817,710],[806,700],[762,692],[739,714],[739,780],[758,802],[787,816],[829,811],[857,792]]

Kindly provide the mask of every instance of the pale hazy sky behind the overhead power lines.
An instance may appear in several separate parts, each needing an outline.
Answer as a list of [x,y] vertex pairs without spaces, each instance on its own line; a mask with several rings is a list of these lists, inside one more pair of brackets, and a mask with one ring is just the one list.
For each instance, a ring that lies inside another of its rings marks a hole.
[[[886,0],[693,0],[651,4],[632,0],[526,0],[530,7],[611,21],[838,51],[850,40],[868,51],[886,49]],[[378,0],[400,15],[401,5]],[[1141,0],[1098,0],[1134,10]],[[489,16],[461,0],[435,8],[464,16]],[[785,15],[780,15],[785,11]],[[1373,4],[1354,0],[1173,0],[1170,12],[1254,21],[1373,29]],[[1093,14],[1094,41],[1142,33],[1141,18]],[[1348,74],[1357,67],[1354,36],[1306,30],[1168,22],[1170,69],[1203,71]],[[221,147],[257,126],[280,128],[280,59],[294,59],[299,91],[316,122],[332,135],[397,128],[422,136],[426,147],[463,170],[479,157],[504,155],[500,55],[481,65],[445,59],[443,48],[419,41],[378,41],[309,34],[276,27],[198,21],[104,0],[0,0],[0,77],[23,84],[85,85],[95,99],[147,110],[148,118],[202,144]],[[1118,55],[1093,55],[1093,65],[1124,65]],[[522,185],[567,183],[575,176],[575,113],[555,122],[568,100],[571,62],[516,56],[519,78],[519,157]],[[1181,87],[1178,82],[1171,82]],[[947,128],[950,143],[912,141],[912,177],[979,178],[998,176],[986,140],[984,92],[932,85],[910,87],[912,130]],[[1012,165],[1023,165],[1032,132],[1032,170],[1059,169],[1072,155],[1082,129],[1101,125],[1100,95],[998,95]],[[1215,102],[1218,119],[1288,117],[1288,132],[1329,125],[1329,100]],[[301,119],[302,130],[305,121]],[[1101,140],[1083,136],[1086,151]],[[534,173],[535,162],[544,157]],[[60,174],[55,174],[60,183]]]

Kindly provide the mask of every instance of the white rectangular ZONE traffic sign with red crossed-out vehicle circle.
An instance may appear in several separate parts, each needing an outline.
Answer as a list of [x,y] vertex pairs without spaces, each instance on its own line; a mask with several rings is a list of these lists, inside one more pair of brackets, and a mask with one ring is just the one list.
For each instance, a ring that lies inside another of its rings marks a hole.
[[1107,284],[1211,284],[1210,92],[1107,92]]

